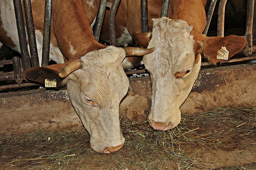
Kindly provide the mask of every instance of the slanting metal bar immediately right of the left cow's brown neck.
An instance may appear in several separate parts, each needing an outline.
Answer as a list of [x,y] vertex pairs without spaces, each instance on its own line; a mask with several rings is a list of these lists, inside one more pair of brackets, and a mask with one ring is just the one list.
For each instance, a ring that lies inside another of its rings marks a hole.
[[96,22],[93,27],[93,35],[97,41],[99,41],[99,38],[100,38],[100,31],[102,29],[102,23],[103,23],[104,16],[106,13],[107,2],[108,2],[108,0],[100,1],[100,7],[99,7],[99,10],[97,13]]

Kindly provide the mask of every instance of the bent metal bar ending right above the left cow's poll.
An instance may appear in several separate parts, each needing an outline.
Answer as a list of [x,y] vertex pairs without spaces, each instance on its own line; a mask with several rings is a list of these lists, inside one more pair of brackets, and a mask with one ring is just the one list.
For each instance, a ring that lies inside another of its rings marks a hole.
[[114,0],[109,12],[109,41],[110,45],[117,46],[116,43],[116,11],[121,0]]

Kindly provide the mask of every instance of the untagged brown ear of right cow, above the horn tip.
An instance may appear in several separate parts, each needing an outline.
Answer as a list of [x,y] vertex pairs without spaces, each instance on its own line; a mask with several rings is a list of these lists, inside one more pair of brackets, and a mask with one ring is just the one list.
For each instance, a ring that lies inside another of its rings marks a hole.
[[132,37],[134,38],[136,44],[140,47],[147,48],[150,39],[152,38],[152,32],[146,33],[132,33]]

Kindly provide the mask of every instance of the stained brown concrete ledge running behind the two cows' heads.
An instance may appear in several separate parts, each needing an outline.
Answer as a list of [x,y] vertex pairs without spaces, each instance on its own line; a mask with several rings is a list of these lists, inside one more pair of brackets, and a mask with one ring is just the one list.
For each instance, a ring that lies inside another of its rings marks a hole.
[[[197,113],[217,106],[256,105],[256,64],[208,68],[200,71],[182,113]],[[133,122],[144,121],[151,100],[149,76],[130,78],[120,115]],[[36,129],[63,131],[82,123],[66,90],[45,89],[0,93],[0,134],[28,133]]]

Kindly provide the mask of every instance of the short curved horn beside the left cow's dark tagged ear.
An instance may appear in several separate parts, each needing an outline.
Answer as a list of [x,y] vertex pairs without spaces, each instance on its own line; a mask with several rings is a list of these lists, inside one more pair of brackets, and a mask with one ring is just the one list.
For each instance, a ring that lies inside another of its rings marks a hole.
[[83,62],[81,60],[73,60],[68,62],[66,65],[62,67],[59,73],[60,78],[65,78],[70,73],[72,73],[75,70],[81,69],[83,66]]

